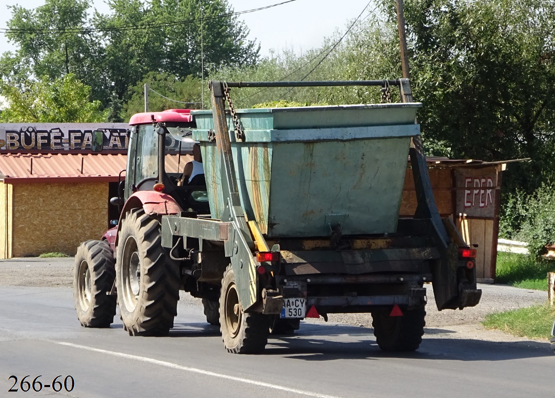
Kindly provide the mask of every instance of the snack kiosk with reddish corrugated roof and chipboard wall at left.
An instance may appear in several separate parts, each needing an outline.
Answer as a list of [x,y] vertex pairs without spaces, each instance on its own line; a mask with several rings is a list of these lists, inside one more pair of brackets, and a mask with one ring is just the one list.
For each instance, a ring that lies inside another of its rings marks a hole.
[[108,200],[126,162],[122,153],[0,154],[0,258],[73,255],[102,237],[118,216]]

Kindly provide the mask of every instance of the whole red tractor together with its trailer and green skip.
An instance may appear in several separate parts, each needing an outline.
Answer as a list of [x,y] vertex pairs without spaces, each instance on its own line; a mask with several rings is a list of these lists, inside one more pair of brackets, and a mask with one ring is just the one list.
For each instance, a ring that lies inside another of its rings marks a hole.
[[[384,99],[398,87],[401,102],[235,110],[230,94],[353,85],[381,87]],[[263,352],[270,332],[352,312],[372,315],[382,350],[413,351],[425,284],[438,310],[478,304],[476,248],[437,211],[407,79],[211,81],[210,91],[211,111],[130,121],[117,233],[85,242],[75,259],[83,326],[111,324],[115,294],[130,335],[167,334],[182,289],[203,299],[229,352]],[[168,135],[199,143],[205,185],[177,183]],[[418,206],[400,218],[409,157]]]

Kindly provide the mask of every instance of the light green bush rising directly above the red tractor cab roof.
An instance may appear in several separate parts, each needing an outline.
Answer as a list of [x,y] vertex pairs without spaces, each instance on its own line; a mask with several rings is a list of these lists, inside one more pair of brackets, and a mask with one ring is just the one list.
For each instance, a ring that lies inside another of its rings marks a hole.
[[[199,78],[187,76],[184,79],[179,79],[168,73],[151,72],[135,86],[130,87],[130,99],[123,107],[125,120],[129,120],[135,113],[144,112],[145,83],[148,83],[149,87],[155,91],[149,91],[148,94],[148,108],[151,112],[175,108],[201,108],[202,87]],[[208,91],[208,89],[206,89],[206,91]],[[162,94],[164,97],[174,99],[175,101],[161,97],[157,93]],[[209,100],[207,100],[207,102],[209,102]]]

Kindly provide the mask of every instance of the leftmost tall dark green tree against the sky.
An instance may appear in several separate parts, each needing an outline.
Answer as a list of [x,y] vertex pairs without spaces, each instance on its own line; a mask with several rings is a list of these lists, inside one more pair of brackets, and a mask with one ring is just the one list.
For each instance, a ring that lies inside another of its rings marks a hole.
[[73,73],[92,87],[94,98],[105,95],[98,38],[92,32],[79,31],[87,26],[89,2],[46,0],[35,9],[17,5],[9,8],[12,18],[8,28],[14,30],[6,37],[17,50],[15,54],[4,53],[0,61],[4,81],[17,85],[32,77],[56,79]]

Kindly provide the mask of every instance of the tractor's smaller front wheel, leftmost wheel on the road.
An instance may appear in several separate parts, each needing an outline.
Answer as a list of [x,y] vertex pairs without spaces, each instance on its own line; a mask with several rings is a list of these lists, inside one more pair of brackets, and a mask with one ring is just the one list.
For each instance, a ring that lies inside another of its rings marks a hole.
[[114,255],[104,241],[81,243],[73,266],[73,299],[84,327],[110,327],[115,315]]

